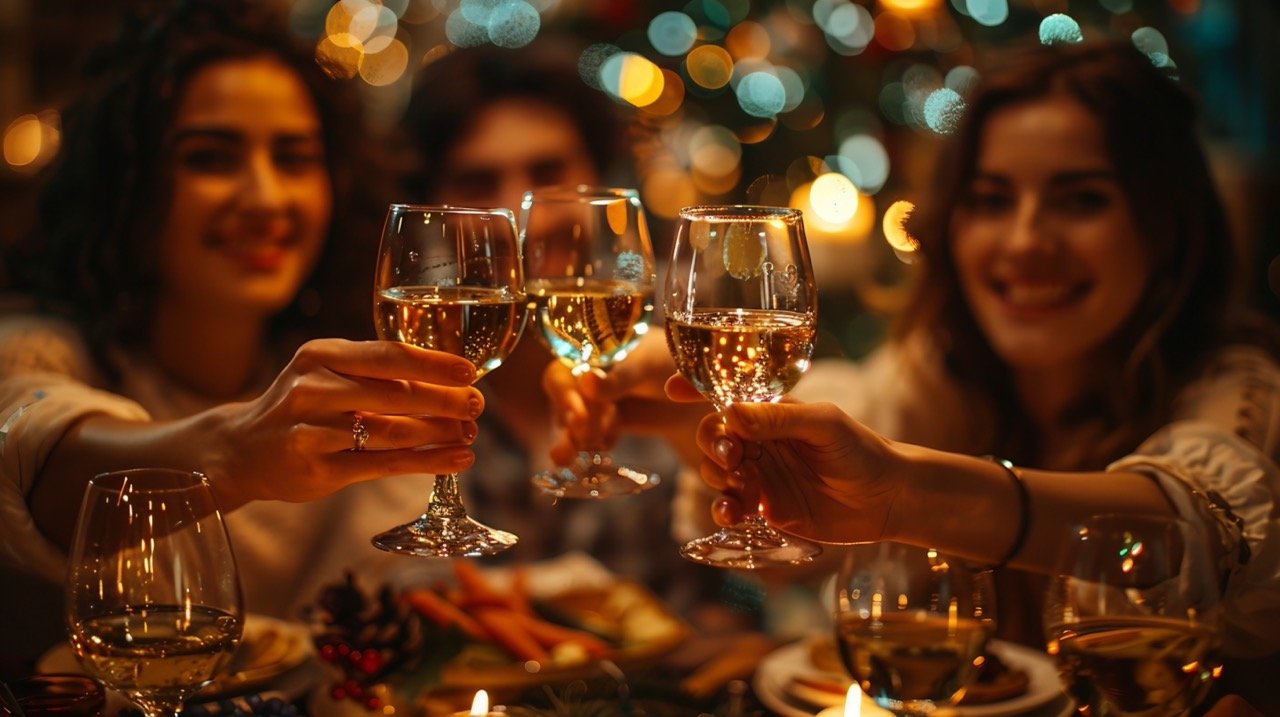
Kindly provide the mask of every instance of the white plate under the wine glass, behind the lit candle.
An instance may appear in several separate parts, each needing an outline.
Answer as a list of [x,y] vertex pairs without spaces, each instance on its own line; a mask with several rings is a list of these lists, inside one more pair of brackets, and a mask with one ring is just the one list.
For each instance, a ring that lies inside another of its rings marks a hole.
[[[989,647],[1006,665],[1027,672],[1030,679],[1027,691],[1012,699],[991,704],[940,709],[934,712],[937,717],[1007,717],[1012,714],[1068,717],[1071,714],[1071,702],[1062,694],[1057,681],[1057,670],[1047,654],[1001,640],[993,640]],[[844,699],[818,690],[805,690],[803,691],[805,699],[797,699],[791,681],[796,676],[820,679],[827,672],[814,667],[809,659],[809,641],[800,640],[765,656],[755,670],[753,686],[760,702],[782,717],[813,717],[817,712],[815,707],[820,709],[824,705],[844,704]],[[823,698],[826,702],[819,702]],[[863,695],[861,707],[864,717],[892,717],[887,709],[878,707],[867,695]]]

